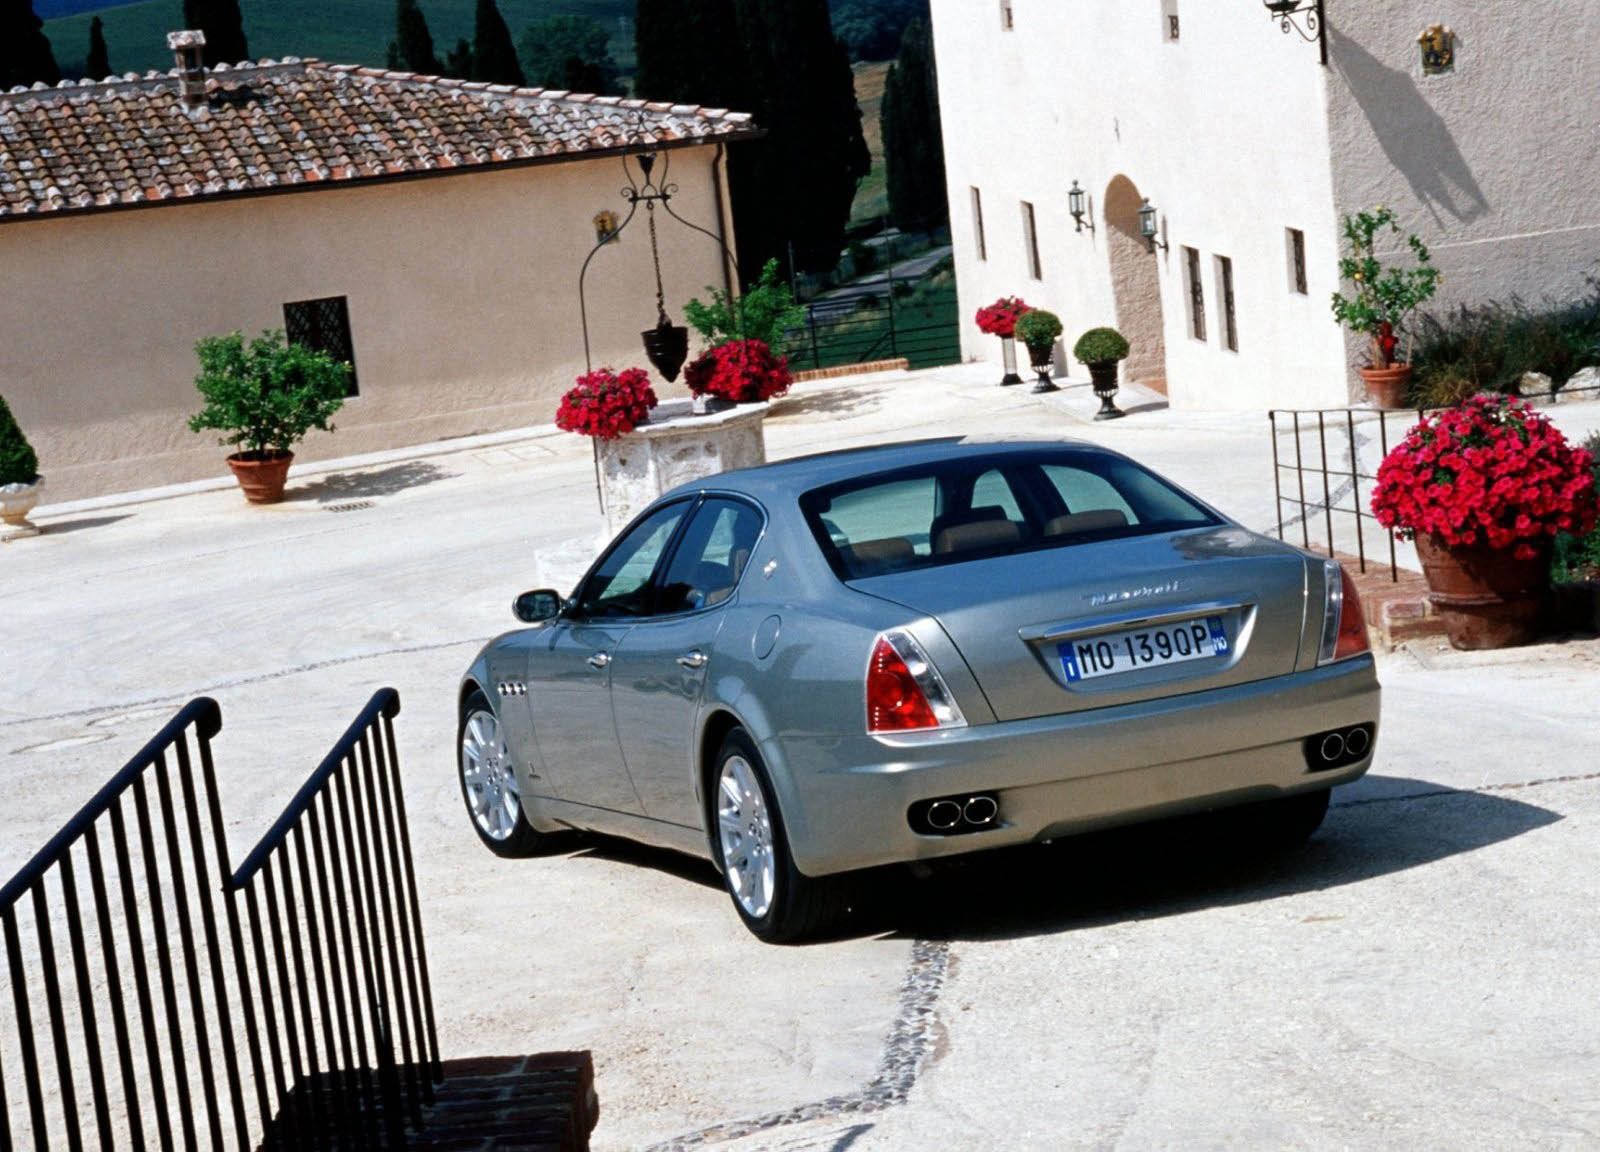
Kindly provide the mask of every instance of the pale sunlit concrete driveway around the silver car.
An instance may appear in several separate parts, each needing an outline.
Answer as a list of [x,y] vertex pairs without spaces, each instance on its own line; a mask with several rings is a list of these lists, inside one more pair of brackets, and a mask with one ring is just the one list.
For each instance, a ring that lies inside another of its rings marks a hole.
[[[1264,418],[1136,395],[1096,426],[1086,387],[994,374],[808,392],[768,450],[1088,437],[1274,523]],[[238,851],[394,685],[442,1050],[592,1048],[597,1147],[1600,1146],[1600,642],[1384,658],[1378,765],[1304,851],[1101,835],[875,878],[843,939],[776,949],[706,866],[603,840],[506,862],[467,826],[454,683],[594,541],[587,442],[35,518],[0,550],[0,874],[200,693]]]

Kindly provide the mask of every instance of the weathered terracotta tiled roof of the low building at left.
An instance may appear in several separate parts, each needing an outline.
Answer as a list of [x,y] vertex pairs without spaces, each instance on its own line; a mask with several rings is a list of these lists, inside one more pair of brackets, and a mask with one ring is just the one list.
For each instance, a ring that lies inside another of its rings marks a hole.
[[754,134],[725,109],[442,80],[320,61],[0,93],[0,221]]

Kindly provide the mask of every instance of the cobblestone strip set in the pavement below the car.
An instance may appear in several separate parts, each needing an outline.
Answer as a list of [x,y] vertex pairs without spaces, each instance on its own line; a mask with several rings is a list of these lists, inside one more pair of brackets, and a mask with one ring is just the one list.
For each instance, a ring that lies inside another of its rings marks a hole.
[[685,1149],[736,1141],[787,1125],[882,1112],[896,1104],[904,1104],[912,1086],[917,1083],[917,1077],[922,1074],[928,1053],[933,1050],[934,1011],[939,1005],[939,994],[944,990],[949,962],[950,946],[944,941],[917,941],[912,946],[910,966],[906,970],[906,979],[901,982],[899,1011],[883,1043],[878,1070],[866,1086],[842,1096],[829,1096],[811,1104],[784,1109],[782,1112],[768,1112],[749,1120],[730,1120],[683,1136],[674,1136],[661,1144],[653,1144],[648,1152],[683,1152]]

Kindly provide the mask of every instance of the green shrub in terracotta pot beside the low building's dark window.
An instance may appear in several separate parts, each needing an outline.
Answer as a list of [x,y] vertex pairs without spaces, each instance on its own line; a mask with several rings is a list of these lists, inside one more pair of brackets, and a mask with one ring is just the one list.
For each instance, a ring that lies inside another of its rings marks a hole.
[[264,331],[245,344],[243,333],[208,336],[195,344],[195,387],[205,408],[189,418],[190,432],[222,432],[218,443],[238,448],[227,466],[251,504],[283,499],[294,445],[307,432],[333,432],[328,419],[344,405],[350,366],[326,352],[286,344],[282,331]]

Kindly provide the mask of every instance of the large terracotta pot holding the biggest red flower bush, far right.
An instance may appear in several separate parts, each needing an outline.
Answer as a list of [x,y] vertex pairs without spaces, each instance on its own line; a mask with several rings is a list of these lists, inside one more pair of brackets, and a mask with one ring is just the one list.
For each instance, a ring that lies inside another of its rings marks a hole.
[[1416,554],[1451,648],[1510,648],[1538,638],[1550,579],[1549,547],[1518,560],[1515,549],[1459,547],[1419,534]]

